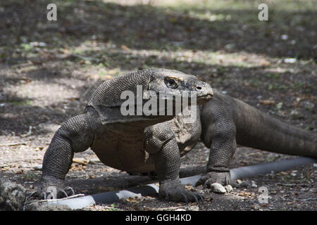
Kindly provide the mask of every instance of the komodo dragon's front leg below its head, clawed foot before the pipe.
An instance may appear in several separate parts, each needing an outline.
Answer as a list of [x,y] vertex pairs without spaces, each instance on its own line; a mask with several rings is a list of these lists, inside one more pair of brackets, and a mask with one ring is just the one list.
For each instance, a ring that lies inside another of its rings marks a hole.
[[154,159],[159,177],[159,197],[173,202],[197,202],[199,193],[187,191],[180,184],[180,150],[178,142],[168,123],[161,123],[147,129],[147,151]]

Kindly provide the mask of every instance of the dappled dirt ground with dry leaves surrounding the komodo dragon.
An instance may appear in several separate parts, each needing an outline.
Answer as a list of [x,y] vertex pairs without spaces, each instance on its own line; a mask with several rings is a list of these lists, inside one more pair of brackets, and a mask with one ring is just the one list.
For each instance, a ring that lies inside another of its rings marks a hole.
[[[213,88],[302,129],[317,131],[316,1],[56,1],[58,20],[46,20],[49,1],[0,4],[0,176],[35,191],[54,132],[81,113],[104,79],[141,68],[197,75]],[[182,158],[180,176],[204,171],[202,143]],[[240,146],[231,167],[290,155]],[[85,195],[152,183],[98,162],[92,150],[75,154],[66,179]],[[190,188],[204,204],[152,197],[84,210],[316,210],[316,164],[242,179],[230,193]],[[259,203],[259,188],[268,203]]]

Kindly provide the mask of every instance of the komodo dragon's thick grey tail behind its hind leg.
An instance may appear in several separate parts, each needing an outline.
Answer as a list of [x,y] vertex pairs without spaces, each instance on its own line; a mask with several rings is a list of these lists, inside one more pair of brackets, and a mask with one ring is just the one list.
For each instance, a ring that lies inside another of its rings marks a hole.
[[317,157],[317,135],[262,113],[235,99],[237,143],[273,153]]

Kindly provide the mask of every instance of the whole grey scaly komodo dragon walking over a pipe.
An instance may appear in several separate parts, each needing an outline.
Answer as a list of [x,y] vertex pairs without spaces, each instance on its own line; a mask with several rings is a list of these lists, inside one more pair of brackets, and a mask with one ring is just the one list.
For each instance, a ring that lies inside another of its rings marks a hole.
[[[156,94],[194,91],[196,120],[185,123],[184,115],[175,115],[175,110],[173,115],[122,115],[120,94],[126,90],[135,94],[138,84],[143,91]],[[206,186],[229,184],[229,164],[236,143],[275,153],[317,157],[316,135],[212,90],[194,75],[176,70],[139,70],[103,82],[89,98],[85,113],[63,122],[44,155],[37,194],[40,198],[72,195],[73,189],[64,184],[65,176],[74,153],[90,147],[110,167],[132,173],[156,171],[160,198],[197,201],[201,195],[180,184],[179,169],[180,157],[199,139],[211,149],[202,181]]]

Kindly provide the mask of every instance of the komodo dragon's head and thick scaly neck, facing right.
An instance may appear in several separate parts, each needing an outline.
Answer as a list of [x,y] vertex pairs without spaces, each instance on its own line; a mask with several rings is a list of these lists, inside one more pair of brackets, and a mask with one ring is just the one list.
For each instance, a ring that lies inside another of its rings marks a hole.
[[189,109],[187,106],[203,104],[212,96],[211,86],[194,75],[154,68],[103,82],[87,105],[97,109],[103,123],[149,126],[171,120]]

